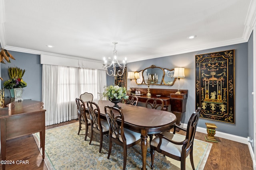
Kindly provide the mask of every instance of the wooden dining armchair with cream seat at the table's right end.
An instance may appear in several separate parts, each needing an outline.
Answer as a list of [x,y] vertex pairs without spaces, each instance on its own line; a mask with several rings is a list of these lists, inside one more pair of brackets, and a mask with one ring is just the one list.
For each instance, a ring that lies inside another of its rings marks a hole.
[[[193,144],[200,112],[201,108],[198,107],[198,109],[192,113],[188,121],[187,129],[174,125],[173,133],[163,132],[155,134],[156,137],[150,143],[151,169],[154,168],[154,150],[180,161],[181,170],[185,170],[186,157],[190,155],[192,168],[193,170],[195,169],[193,161]],[[176,128],[186,131],[186,137],[176,135]]]

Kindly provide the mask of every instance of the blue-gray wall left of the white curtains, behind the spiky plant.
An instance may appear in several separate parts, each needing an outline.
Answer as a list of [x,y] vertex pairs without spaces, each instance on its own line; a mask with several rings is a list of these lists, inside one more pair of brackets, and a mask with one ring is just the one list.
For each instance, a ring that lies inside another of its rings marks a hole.
[[[25,69],[26,72],[22,78],[27,83],[27,86],[23,88],[22,98],[41,101],[42,64],[40,64],[40,55],[20,53],[16,51],[9,52],[16,60],[11,59],[11,63],[1,63],[2,78],[4,81],[9,79],[8,67],[17,66],[21,69]],[[1,83],[2,87],[4,87],[3,82]],[[10,96],[10,91],[5,89],[5,97]]]

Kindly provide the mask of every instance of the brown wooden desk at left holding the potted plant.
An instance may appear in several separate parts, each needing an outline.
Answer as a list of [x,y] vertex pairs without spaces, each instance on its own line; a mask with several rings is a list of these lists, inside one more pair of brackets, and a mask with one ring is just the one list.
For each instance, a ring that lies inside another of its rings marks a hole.
[[[2,160],[6,160],[6,141],[40,132],[40,147],[44,159],[45,109],[43,103],[33,100],[11,102],[0,109],[0,132]],[[2,164],[5,170],[5,164]]]

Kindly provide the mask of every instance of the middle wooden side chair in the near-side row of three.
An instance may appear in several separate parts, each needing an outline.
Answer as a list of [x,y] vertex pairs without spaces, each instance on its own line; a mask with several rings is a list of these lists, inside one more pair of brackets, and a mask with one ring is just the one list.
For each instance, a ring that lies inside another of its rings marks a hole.
[[100,134],[100,151],[102,149],[103,135],[108,134],[108,122],[100,118],[100,109],[98,104],[92,101],[87,102],[87,109],[91,118],[91,139],[89,145],[92,143],[93,132]]

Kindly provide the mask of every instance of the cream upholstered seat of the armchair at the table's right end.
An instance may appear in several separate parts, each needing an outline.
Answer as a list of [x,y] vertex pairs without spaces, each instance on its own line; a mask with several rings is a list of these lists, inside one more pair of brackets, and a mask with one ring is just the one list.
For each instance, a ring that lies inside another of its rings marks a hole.
[[[170,132],[163,132],[162,135],[164,135],[166,138],[171,139],[172,141],[176,141],[176,142],[182,142],[185,140],[185,136],[182,135],[176,135]],[[150,145],[157,147],[159,143],[159,137],[155,137]],[[181,156],[181,151],[182,151],[182,146],[183,145],[175,145],[169,141],[167,141],[166,139],[162,139],[162,144],[160,146],[161,150],[164,150],[170,154],[173,154],[175,156]]]

